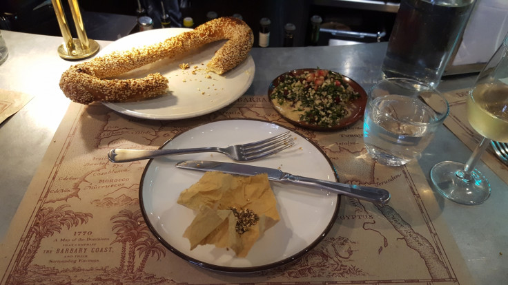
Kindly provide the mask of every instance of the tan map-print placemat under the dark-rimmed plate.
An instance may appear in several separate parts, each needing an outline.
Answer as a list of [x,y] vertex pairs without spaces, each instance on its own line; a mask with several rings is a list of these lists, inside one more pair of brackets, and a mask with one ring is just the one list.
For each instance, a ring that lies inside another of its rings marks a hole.
[[[380,207],[343,197],[320,244],[268,271],[221,273],[182,260],[155,240],[141,215],[146,160],[114,164],[106,154],[119,146],[155,149],[228,118],[294,129],[331,158],[341,182],[388,189],[391,201]],[[71,103],[0,246],[0,284],[469,284],[440,213],[417,162],[385,167],[367,156],[361,121],[333,132],[295,128],[265,96],[244,95],[213,114],[179,121]]]

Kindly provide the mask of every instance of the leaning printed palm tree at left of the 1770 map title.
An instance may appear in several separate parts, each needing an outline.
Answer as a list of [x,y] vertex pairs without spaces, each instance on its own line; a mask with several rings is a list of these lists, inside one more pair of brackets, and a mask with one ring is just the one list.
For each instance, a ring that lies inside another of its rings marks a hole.
[[68,204],[61,205],[56,209],[52,207],[43,207],[39,209],[35,216],[35,221],[28,230],[26,242],[22,252],[21,263],[17,267],[18,273],[26,273],[28,266],[35,258],[35,254],[41,246],[44,238],[50,237],[53,234],[60,233],[61,229],[66,226],[70,229],[71,226],[78,226],[79,224],[86,224],[89,218],[93,218],[91,213],[81,213],[72,210],[65,210],[70,207]]

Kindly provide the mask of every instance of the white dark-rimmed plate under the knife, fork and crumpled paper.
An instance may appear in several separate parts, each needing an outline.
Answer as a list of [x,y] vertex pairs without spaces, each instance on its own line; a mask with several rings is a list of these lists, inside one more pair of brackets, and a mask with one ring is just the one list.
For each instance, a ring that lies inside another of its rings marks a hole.
[[[221,120],[185,131],[162,148],[227,146],[261,140],[287,130],[259,120]],[[274,156],[244,163],[336,181],[334,168],[324,153],[300,134],[291,133],[295,138],[294,146]],[[228,272],[262,271],[280,266],[309,251],[335,222],[338,195],[271,182],[281,220],[260,237],[246,257],[235,257],[233,251],[213,245],[197,246],[190,251],[190,244],[182,235],[195,213],[176,201],[204,172],[177,169],[175,164],[182,160],[231,160],[222,154],[210,153],[156,158],[148,162],[141,179],[139,200],[150,230],[170,251],[193,264]]]

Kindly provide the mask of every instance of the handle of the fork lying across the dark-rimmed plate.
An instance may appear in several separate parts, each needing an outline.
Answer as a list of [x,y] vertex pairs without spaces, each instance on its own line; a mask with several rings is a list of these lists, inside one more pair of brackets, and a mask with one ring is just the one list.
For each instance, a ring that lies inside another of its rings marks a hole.
[[195,154],[198,152],[217,151],[215,147],[198,147],[193,149],[111,149],[108,158],[111,162],[129,162],[167,156],[170,154]]

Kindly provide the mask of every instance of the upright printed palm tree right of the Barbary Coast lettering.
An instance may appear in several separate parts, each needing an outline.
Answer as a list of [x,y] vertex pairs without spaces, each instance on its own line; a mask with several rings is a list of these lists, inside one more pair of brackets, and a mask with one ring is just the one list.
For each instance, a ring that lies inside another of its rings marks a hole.
[[[111,244],[115,242],[120,242],[122,244],[119,273],[125,272],[127,274],[133,274],[137,243],[139,244],[140,240],[150,238],[148,226],[146,226],[143,220],[141,210],[134,212],[130,210],[121,210],[117,215],[113,215],[111,220],[115,220],[115,222],[113,222],[115,224],[113,226],[113,231],[117,235]],[[126,254],[128,254],[128,259],[124,271]]]

